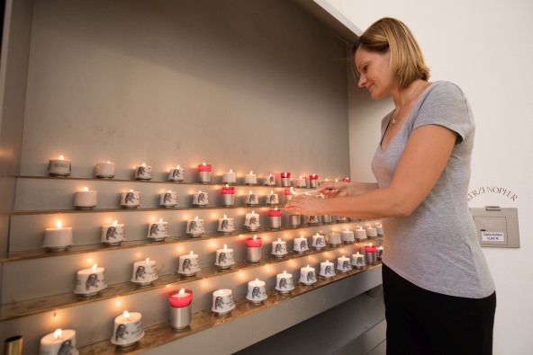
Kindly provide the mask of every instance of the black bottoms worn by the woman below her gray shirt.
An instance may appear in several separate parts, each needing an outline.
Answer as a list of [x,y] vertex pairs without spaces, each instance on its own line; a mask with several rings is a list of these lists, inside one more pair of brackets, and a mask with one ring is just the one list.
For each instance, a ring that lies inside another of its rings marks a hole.
[[492,354],[496,292],[485,298],[442,295],[383,265],[387,354]]

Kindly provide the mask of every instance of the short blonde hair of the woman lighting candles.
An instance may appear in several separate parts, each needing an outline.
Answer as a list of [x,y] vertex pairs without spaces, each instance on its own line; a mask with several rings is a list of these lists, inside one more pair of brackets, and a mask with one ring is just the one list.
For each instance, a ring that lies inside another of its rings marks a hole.
[[403,22],[391,17],[374,22],[354,43],[352,54],[363,48],[371,52],[391,53],[391,68],[401,88],[418,79],[429,80],[420,46]]

